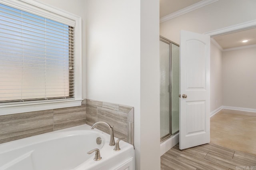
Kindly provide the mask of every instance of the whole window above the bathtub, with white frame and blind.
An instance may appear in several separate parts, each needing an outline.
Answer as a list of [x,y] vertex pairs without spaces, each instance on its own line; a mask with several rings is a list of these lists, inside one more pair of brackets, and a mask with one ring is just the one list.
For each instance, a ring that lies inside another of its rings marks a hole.
[[33,2],[37,7],[11,2],[0,1],[0,108],[40,104],[23,109],[26,112],[81,105],[81,52],[76,40],[81,19],[61,16],[67,13],[39,2]]

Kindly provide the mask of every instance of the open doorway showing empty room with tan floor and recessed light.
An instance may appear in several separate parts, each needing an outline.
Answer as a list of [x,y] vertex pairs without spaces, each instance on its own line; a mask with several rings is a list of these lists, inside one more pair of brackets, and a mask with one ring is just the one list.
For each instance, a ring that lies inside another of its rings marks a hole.
[[[218,74],[219,87],[215,88],[212,97],[211,137],[213,144],[239,150],[256,155],[255,125],[256,95],[255,67],[256,62],[256,28],[213,36],[213,54],[218,50],[220,55],[213,55],[212,59],[220,58],[221,67]],[[247,41],[244,41],[247,40]],[[217,63],[214,63],[217,65]],[[217,65],[218,66],[218,65]],[[215,67],[216,68],[216,67]],[[215,70],[214,68],[214,70]],[[217,72],[216,72],[217,73]],[[216,95],[220,94],[220,95]],[[216,105],[217,97],[221,97]],[[220,108],[220,109],[219,109]],[[220,111],[219,111],[220,110]],[[249,111],[249,112],[248,112]],[[216,113],[216,115],[214,115]],[[220,130],[221,129],[221,130]]]

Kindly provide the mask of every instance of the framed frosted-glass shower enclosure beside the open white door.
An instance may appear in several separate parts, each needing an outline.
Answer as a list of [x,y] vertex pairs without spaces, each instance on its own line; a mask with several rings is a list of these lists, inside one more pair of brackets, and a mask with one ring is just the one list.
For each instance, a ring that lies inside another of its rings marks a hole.
[[160,36],[160,139],[179,132],[180,47]]

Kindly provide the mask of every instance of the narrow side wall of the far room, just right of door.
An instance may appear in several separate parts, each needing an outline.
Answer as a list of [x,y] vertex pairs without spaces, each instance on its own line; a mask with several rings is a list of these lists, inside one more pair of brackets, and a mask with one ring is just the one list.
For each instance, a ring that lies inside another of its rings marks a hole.
[[210,112],[223,105],[222,102],[222,51],[211,42],[210,54]]

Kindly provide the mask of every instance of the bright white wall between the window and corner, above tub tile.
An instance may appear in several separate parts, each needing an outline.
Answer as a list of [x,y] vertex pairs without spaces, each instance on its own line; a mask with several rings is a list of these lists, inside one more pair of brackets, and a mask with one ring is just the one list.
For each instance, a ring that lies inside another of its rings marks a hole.
[[87,99],[140,109],[140,2],[86,1]]

